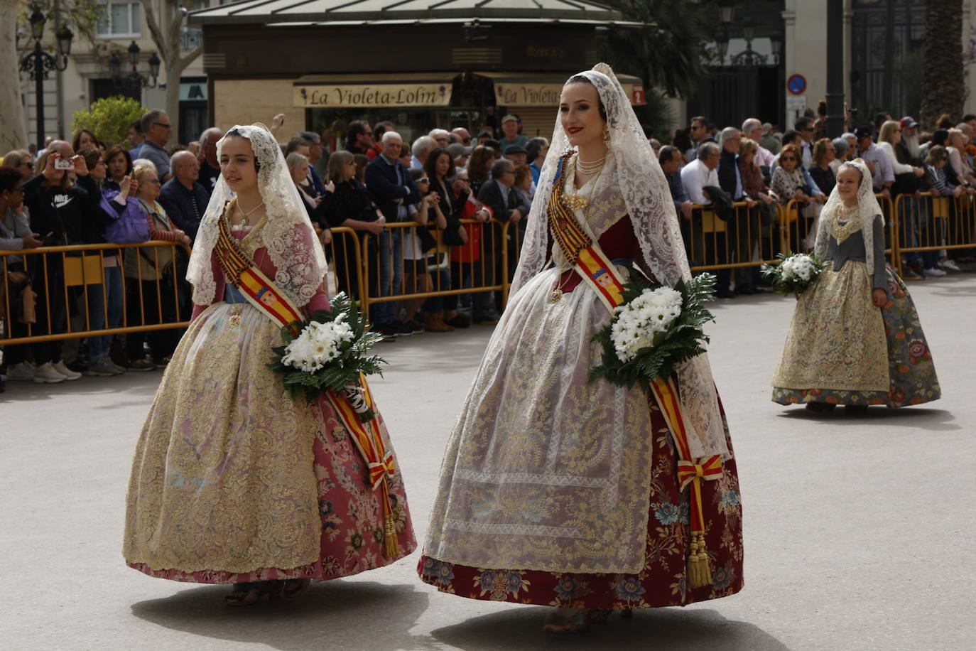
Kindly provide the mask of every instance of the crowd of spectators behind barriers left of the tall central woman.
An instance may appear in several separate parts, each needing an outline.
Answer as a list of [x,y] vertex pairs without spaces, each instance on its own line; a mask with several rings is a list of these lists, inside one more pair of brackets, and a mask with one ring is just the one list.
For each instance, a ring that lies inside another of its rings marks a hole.
[[[320,229],[333,287],[358,297],[352,248],[368,241],[370,296],[388,299],[371,305],[370,320],[385,341],[497,321],[501,293],[460,292],[499,284],[513,272],[546,139],[522,136],[514,115],[502,119],[497,137],[491,128],[472,137],[458,127],[433,129],[411,142],[390,122],[356,120],[347,125],[345,142],[328,153],[319,134],[287,137],[282,123],[283,116],[275,116],[271,129]],[[101,282],[80,287],[65,281],[64,261],[77,254],[7,257],[4,291],[16,299],[9,318],[0,318],[8,334],[63,336],[186,320],[185,264],[220,176],[223,135],[212,127],[196,142],[172,144],[169,116],[153,109],[131,126],[128,142],[107,145],[83,130],[71,142],[50,140],[36,155],[8,152],[0,166],[0,250],[173,245],[97,250]],[[387,226],[404,222],[419,225]],[[505,223],[517,224],[507,238]],[[334,237],[340,226],[344,231]],[[42,287],[36,294],[45,300],[33,300],[33,290]],[[434,289],[459,293],[415,296]],[[396,300],[400,295],[410,296]],[[6,346],[0,373],[11,381],[59,384],[83,375],[151,371],[168,363],[181,334],[173,327],[146,328]]]

